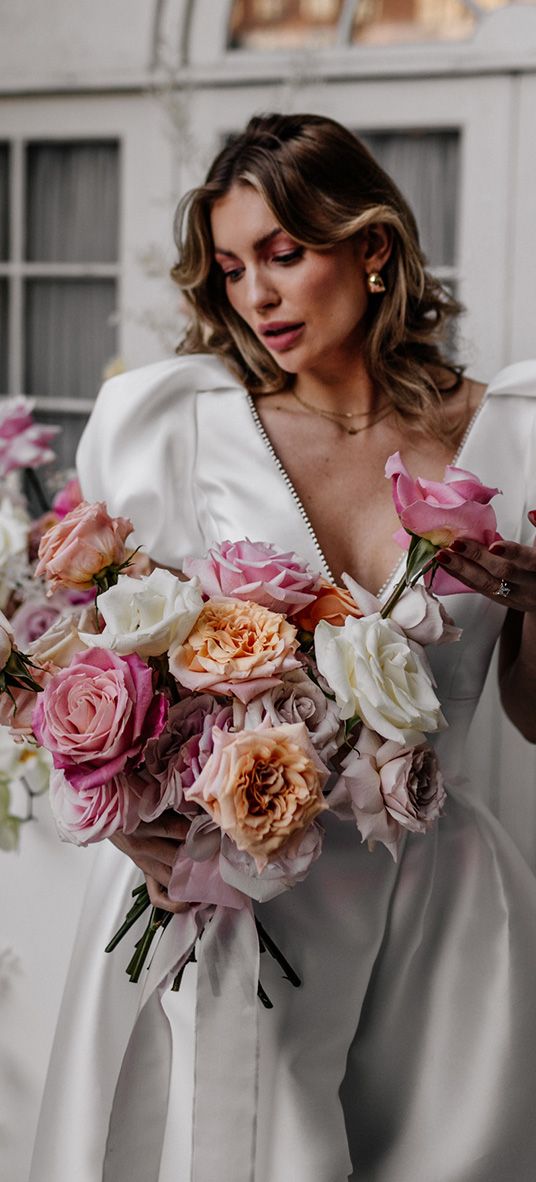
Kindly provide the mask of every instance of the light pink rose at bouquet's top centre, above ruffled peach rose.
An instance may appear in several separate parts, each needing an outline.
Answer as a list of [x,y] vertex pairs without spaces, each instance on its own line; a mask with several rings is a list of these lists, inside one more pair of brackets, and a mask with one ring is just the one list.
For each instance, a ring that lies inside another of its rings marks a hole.
[[199,577],[208,598],[250,599],[285,616],[312,603],[319,578],[296,554],[248,538],[222,541],[206,558],[187,558],[183,571]]

